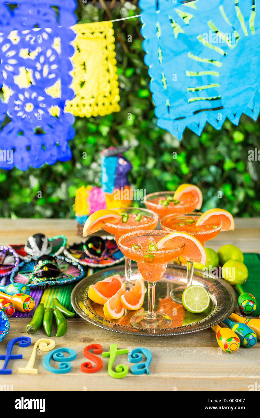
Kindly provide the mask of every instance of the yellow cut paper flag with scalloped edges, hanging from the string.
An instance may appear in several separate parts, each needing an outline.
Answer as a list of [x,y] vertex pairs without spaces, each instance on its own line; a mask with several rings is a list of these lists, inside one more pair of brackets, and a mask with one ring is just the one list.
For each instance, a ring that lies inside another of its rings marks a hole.
[[119,88],[112,22],[73,26],[73,83],[76,97],[66,103],[75,116],[104,116],[119,112]]

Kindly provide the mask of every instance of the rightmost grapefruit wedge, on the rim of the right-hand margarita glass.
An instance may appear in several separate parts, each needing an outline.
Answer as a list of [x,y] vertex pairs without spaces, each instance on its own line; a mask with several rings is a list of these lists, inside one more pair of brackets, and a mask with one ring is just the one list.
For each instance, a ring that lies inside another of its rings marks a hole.
[[209,209],[199,217],[196,226],[210,224],[219,225],[222,222],[220,231],[230,231],[235,229],[234,219],[230,212],[224,209]]

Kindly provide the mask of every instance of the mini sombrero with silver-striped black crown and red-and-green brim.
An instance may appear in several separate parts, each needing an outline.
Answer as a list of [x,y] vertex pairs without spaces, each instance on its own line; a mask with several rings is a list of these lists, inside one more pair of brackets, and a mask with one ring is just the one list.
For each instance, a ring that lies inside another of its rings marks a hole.
[[10,245],[22,260],[31,260],[41,255],[59,255],[66,247],[67,239],[64,235],[56,235],[48,238],[46,235],[37,233],[30,235],[26,244]]

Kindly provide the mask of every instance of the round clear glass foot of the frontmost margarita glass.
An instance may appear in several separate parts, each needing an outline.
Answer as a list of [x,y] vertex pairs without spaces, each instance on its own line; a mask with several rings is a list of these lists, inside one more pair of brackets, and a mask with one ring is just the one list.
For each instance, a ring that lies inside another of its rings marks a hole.
[[165,329],[172,326],[171,318],[162,314],[162,312],[155,312],[155,318],[149,318],[148,312],[139,312],[131,318],[131,326],[137,329]]

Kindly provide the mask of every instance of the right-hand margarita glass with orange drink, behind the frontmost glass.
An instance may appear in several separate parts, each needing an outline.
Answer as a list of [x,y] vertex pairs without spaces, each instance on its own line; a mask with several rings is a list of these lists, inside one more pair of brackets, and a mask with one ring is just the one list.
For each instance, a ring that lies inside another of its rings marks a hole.
[[[205,241],[215,238],[222,227],[222,222],[219,220],[215,225],[203,224],[196,226],[196,222],[202,215],[201,212],[192,212],[189,214],[174,215],[170,214],[160,220],[162,230],[170,234],[171,232],[187,232],[197,238],[204,246]],[[193,261],[187,260],[187,285],[173,289],[170,296],[174,302],[182,304],[182,293],[184,290],[192,285],[193,278]]]

